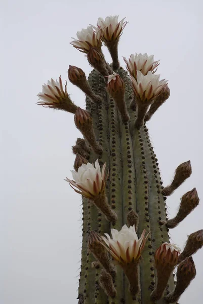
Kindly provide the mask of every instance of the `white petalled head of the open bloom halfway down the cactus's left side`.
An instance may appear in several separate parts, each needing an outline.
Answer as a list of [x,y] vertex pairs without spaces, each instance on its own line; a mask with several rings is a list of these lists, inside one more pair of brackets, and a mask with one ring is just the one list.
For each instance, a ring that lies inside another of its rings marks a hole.
[[86,198],[93,199],[105,188],[107,178],[105,168],[106,163],[103,165],[101,172],[98,160],[95,162],[95,167],[90,163],[87,163],[87,165],[82,164],[77,172],[71,171],[74,180],[70,180],[67,177],[65,180],[70,183],[75,192],[82,194]]

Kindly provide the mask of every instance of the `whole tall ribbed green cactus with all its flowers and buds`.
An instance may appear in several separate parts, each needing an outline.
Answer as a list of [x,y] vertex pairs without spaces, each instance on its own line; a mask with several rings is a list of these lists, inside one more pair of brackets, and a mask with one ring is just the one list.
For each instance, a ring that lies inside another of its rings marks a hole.
[[159,61],[153,55],[124,57],[130,75],[120,66],[118,42],[127,23],[118,16],[99,18],[71,42],[93,67],[88,80],[81,68],[68,69],[69,81],[86,94],[86,109],[71,101],[61,77],[38,94],[39,105],[73,113],[83,135],[72,147],[72,179],[65,179],[83,198],[78,304],[177,303],[196,275],[191,255],[203,245],[203,230],[191,233],[182,253],[169,241],[169,229],[199,198],[193,188],[183,195],[175,218],[167,218],[167,196],[191,175],[191,165],[180,164],[172,183],[163,186],[146,122],[170,90],[156,74]]

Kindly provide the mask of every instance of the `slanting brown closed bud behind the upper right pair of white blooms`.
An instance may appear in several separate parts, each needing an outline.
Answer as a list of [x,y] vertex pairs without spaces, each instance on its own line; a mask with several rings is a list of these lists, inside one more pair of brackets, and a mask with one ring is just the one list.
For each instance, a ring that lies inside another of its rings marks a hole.
[[151,104],[148,112],[145,115],[144,120],[147,122],[151,119],[152,115],[155,111],[169,98],[170,96],[170,89],[168,85],[165,85],[160,94],[154,99],[153,103]]

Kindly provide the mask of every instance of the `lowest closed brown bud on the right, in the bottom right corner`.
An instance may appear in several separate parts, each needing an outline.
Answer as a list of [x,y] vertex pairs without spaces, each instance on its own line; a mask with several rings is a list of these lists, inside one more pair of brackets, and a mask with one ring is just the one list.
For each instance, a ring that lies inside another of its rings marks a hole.
[[165,297],[167,302],[176,303],[195,276],[196,269],[193,259],[190,256],[178,266],[176,287],[173,292]]

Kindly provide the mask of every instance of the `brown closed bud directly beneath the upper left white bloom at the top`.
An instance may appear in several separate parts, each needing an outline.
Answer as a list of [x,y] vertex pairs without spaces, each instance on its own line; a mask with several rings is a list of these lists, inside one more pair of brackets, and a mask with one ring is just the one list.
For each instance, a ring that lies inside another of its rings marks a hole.
[[91,47],[88,52],[88,62],[104,77],[108,75],[107,63],[101,50]]

